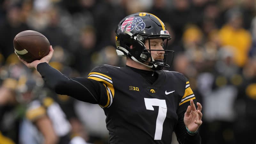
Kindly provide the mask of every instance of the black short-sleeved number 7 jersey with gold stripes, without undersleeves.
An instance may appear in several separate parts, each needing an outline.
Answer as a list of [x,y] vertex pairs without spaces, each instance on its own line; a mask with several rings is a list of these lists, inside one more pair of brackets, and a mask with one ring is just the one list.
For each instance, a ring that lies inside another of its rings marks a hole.
[[99,104],[107,116],[110,143],[171,143],[178,114],[196,97],[182,74],[156,73],[152,85],[128,67],[102,65],[88,75],[105,87]]

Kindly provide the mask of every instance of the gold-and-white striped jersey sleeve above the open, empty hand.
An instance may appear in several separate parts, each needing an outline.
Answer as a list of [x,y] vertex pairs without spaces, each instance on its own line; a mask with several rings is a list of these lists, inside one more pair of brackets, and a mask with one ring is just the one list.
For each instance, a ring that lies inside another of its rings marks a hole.
[[[181,97],[180,103],[179,103],[179,108],[178,108],[178,114],[180,112],[184,112],[187,110],[188,105],[190,105],[190,100],[192,99],[193,102],[196,105],[196,97],[194,95],[194,92],[192,91],[190,84],[189,84],[189,80],[187,77],[185,77],[183,74],[182,75],[182,79],[184,80],[184,85],[183,85],[183,90],[184,90],[184,95]],[[197,107],[197,105],[196,105]]]

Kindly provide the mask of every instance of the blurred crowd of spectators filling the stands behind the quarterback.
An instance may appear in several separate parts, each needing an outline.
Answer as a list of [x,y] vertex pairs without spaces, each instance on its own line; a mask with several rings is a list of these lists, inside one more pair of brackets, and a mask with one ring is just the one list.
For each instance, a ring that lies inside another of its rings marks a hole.
[[101,64],[125,66],[115,52],[115,28],[134,12],[156,15],[170,32],[175,58],[165,70],[187,76],[203,105],[202,144],[255,144],[255,0],[0,0],[0,144],[22,143],[28,105],[45,97],[60,105],[71,137],[108,143],[100,106],[56,94],[22,95],[28,82],[37,91],[44,82],[20,64],[13,38],[24,30],[41,32],[54,49],[52,67],[87,76]]

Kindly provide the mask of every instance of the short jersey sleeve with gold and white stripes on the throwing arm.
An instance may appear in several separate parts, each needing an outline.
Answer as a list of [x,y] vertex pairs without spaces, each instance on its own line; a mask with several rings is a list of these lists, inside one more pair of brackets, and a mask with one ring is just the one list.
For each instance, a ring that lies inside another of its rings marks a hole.
[[115,95],[109,68],[105,65],[96,67],[89,73],[88,78],[98,81],[103,85],[102,88],[104,90],[101,90],[99,105],[102,108],[109,107],[112,104]]

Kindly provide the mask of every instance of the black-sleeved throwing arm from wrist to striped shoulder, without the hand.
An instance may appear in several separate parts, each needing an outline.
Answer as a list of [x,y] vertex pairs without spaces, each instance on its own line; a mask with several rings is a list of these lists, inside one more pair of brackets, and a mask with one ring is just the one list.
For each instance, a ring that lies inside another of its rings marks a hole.
[[41,74],[44,82],[57,94],[108,107],[111,105],[112,95],[114,95],[113,85],[110,77],[97,71],[100,68],[94,69],[88,78],[68,78],[46,62],[37,65],[37,71]]

